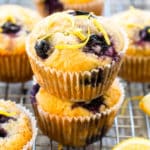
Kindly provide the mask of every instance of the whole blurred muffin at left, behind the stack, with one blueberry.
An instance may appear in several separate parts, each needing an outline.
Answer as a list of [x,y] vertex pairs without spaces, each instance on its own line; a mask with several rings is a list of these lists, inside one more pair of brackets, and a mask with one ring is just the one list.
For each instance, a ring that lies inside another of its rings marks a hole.
[[25,39],[40,17],[17,5],[1,5],[0,12],[0,81],[25,82],[33,74]]

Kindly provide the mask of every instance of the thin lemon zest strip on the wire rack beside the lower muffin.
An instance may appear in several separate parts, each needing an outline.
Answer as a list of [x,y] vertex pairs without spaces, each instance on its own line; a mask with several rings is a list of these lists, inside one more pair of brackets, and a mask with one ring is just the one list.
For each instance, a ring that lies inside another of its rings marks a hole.
[[129,101],[140,101],[142,98],[143,96],[133,96],[133,97],[126,98],[122,105],[121,115],[125,114]]

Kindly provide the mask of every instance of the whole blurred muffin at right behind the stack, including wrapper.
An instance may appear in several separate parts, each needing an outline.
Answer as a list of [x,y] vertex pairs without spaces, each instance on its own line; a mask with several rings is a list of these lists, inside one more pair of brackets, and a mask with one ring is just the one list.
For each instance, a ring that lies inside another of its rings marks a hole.
[[150,11],[131,8],[112,19],[124,27],[129,38],[129,47],[119,75],[127,81],[149,82]]

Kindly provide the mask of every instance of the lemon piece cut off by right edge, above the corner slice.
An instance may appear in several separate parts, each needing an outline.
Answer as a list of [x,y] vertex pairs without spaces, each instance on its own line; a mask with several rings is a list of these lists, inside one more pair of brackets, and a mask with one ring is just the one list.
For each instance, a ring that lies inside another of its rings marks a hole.
[[142,98],[139,107],[143,112],[150,116],[150,93]]

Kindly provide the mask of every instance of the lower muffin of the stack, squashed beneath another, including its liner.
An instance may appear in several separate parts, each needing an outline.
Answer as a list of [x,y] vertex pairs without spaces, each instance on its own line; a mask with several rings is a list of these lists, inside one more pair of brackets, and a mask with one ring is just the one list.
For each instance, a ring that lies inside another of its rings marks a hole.
[[[65,146],[81,147],[102,138],[111,128],[124,99],[118,81],[105,95],[85,102],[71,102],[33,86],[31,102],[38,125],[45,135]],[[70,138],[71,137],[71,138]]]

